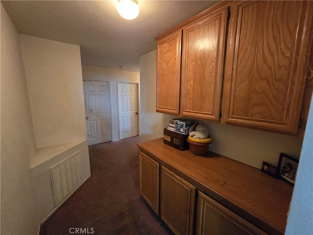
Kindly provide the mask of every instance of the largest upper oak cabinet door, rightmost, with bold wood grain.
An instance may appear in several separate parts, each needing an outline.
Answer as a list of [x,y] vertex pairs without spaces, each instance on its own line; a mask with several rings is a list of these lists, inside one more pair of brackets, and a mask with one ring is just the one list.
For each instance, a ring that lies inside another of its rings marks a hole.
[[312,41],[312,1],[230,8],[224,121],[296,133]]

